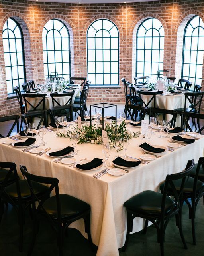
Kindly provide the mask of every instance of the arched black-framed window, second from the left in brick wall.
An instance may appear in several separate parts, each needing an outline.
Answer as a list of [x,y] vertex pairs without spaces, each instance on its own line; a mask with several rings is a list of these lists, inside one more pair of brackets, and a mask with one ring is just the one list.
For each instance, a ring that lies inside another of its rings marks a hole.
[[69,31],[60,20],[49,20],[43,28],[43,58],[45,77],[51,72],[69,79],[70,41]]

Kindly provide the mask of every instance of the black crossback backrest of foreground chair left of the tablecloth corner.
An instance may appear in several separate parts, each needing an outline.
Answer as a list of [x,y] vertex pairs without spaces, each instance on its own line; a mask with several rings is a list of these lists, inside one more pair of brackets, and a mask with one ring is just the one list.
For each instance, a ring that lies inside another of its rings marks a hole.
[[[33,210],[34,216],[36,216],[39,211],[43,211],[44,214],[46,214],[48,216],[47,212],[43,208],[43,204],[44,204],[45,200],[47,200],[47,198],[49,198],[51,192],[53,191],[55,194],[56,205],[57,205],[57,219],[58,219],[58,221],[61,222],[61,204],[60,204],[59,187],[58,187],[59,180],[57,178],[43,177],[43,176],[37,176],[37,175],[31,174],[27,171],[26,166],[20,165],[20,170],[21,170],[22,175],[28,182],[28,186],[29,186],[29,189],[31,192],[32,210]],[[38,182],[41,184],[49,185],[44,196],[41,196],[39,198],[38,197],[39,193],[35,194],[35,191],[33,190],[32,182]],[[37,207],[35,204],[36,201],[39,203],[37,205]]]

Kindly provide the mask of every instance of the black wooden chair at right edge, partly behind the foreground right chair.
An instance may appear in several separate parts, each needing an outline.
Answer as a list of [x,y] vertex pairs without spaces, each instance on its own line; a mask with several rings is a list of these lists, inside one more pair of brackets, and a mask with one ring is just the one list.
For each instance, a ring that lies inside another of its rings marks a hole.
[[[200,199],[204,196],[204,183],[198,180],[201,166],[204,166],[204,157],[199,158],[196,172],[194,173],[194,178],[188,177],[188,181],[186,182],[183,189],[183,202],[186,202],[189,208],[189,219],[191,219],[192,237],[193,237],[194,245],[196,245],[196,232],[195,232],[196,207]],[[179,192],[180,190],[181,182],[182,180],[173,181],[177,192]],[[161,184],[160,186],[161,192],[163,192],[163,189],[164,189],[164,183]],[[171,186],[167,187],[167,195],[174,196],[174,192]],[[191,202],[189,201],[189,199],[191,200]]]

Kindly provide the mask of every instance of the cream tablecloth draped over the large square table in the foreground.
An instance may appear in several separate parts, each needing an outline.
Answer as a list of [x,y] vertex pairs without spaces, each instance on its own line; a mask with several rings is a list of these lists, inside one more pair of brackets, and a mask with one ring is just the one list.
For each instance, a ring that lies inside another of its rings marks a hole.
[[[133,126],[130,127],[130,125],[127,128],[133,131],[138,129]],[[159,133],[155,132],[150,140],[151,145],[167,146],[169,139],[158,138],[158,135]],[[118,256],[118,248],[123,246],[126,237],[124,202],[144,190],[158,191],[159,184],[165,180],[167,174],[183,170],[189,159],[194,158],[197,162],[198,158],[203,156],[204,149],[204,136],[199,135],[199,137],[200,140],[195,140],[193,144],[183,146],[173,152],[167,151],[163,153],[161,158],[156,158],[147,165],[140,164],[123,176],[105,174],[99,179],[93,178],[92,175],[102,170],[102,168],[95,171],[80,171],[76,168],[69,168],[65,164],[54,163],[55,158],[46,154],[36,156],[29,152],[22,152],[22,148],[2,144],[5,139],[0,140],[0,159],[1,161],[15,162],[17,166],[23,164],[33,174],[57,177],[60,193],[70,194],[90,204],[92,240],[94,244],[98,245],[96,255]],[[38,135],[36,138],[38,144],[40,138]],[[47,141],[47,144],[43,148],[50,146],[51,149],[54,149],[56,145],[57,148],[71,146],[71,141],[68,138],[59,138],[55,135],[55,132],[47,132],[45,141]],[[143,151],[139,148],[141,139],[133,138],[129,142],[128,155],[139,158],[143,154]],[[103,158],[102,145],[79,144],[77,149],[80,150],[78,155],[75,156],[77,160]],[[110,162],[115,157],[116,150],[112,148]],[[143,219],[135,218],[133,232],[141,230],[143,224]],[[74,222],[71,227],[77,228],[86,237],[83,220]]]

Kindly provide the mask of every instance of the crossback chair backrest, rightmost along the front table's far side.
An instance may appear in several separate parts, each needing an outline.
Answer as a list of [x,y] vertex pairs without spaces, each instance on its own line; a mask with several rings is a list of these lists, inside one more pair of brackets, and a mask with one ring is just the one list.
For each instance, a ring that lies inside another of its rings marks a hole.
[[[181,113],[181,120],[182,120],[182,127],[186,131],[192,132],[192,128],[189,124],[189,119],[192,118],[194,121],[197,120],[198,123],[198,130],[196,129],[194,132],[202,134],[202,130],[204,130],[204,114],[193,113],[193,112],[182,112]],[[202,120],[202,126],[200,126],[200,120]]]

